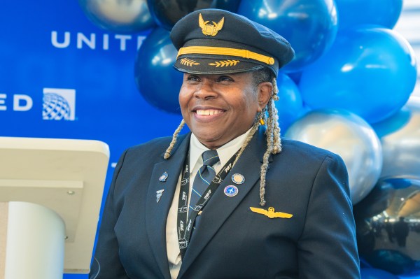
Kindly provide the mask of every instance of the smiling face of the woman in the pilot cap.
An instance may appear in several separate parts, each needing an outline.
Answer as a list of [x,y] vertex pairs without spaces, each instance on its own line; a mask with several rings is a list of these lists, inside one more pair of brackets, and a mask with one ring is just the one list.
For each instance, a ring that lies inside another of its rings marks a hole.
[[219,148],[251,129],[255,115],[267,105],[271,83],[259,85],[257,90],[250,72],[185,73],[179,92],[183,119],[207,148]]

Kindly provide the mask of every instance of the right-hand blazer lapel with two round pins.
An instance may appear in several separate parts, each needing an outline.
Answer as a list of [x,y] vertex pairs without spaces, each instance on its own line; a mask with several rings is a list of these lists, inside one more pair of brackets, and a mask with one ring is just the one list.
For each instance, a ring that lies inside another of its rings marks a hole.
[[[209,243],[211,238],[216,234],[230,214],[237,208],[242,199],[248,194],[252,187],[260,179],[260,167],[262,164],[262,156],[265,152],[265,129],[259,129],[255,133],[252,141],[246,150],[242,153],[241,158],[228,173],[223,183],[211,197],[203,214],[200,216],[200,229],[194,231],[193,237],[188,244],[186,255],[183,257],[183,263],[178,278],[182,278],[186,270],[193,264],[194,260],[204,247]],[[252,166],[251,168],[249,166]],[[225,196],[223,190],[226,186],[232,185],[231,176],[234,173],[241,173],[245,176],[244,184],[238,185],[239,192],[236,196]],[[255,186],[257,187],[257,186]]]

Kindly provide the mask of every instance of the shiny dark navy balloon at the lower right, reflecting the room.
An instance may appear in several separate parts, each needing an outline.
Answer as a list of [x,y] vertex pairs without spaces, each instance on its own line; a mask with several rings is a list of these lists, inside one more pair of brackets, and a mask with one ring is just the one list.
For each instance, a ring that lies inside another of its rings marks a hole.
[[395,275],[420,274],[420,180],[380,180],[353,209],[365,262]]

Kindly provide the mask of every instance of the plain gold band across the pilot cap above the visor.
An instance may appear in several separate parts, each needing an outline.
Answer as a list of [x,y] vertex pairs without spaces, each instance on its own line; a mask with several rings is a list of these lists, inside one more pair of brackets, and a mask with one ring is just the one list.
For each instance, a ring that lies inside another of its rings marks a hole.
[[236,56],[244,57],[247,59],[253,59],[259,62],[263,62],[268,65],[274,64],[274,58],[266,55],[260,55],[257,52],[252,52],[251,50],[239,50],[237,48],[218,48],[218,47],[209,47],[209,46],[190,46],[185,48],[180,48],[178,51],[178,58],[180,55],[227,55],[227,56]]

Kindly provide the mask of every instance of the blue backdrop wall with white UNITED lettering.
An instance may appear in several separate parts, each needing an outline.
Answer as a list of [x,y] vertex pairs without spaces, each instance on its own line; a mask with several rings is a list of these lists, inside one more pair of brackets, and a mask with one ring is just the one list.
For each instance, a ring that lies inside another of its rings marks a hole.
[[[170,135],[181,121],[149,105],[135,85],[137,48],[148,32],[104,31],[77,1],[1,1],[0,136],[104,141],[106,193],[125,148]],[[60,117],[50,110],[60,101],[68,120],[50,119]]]

